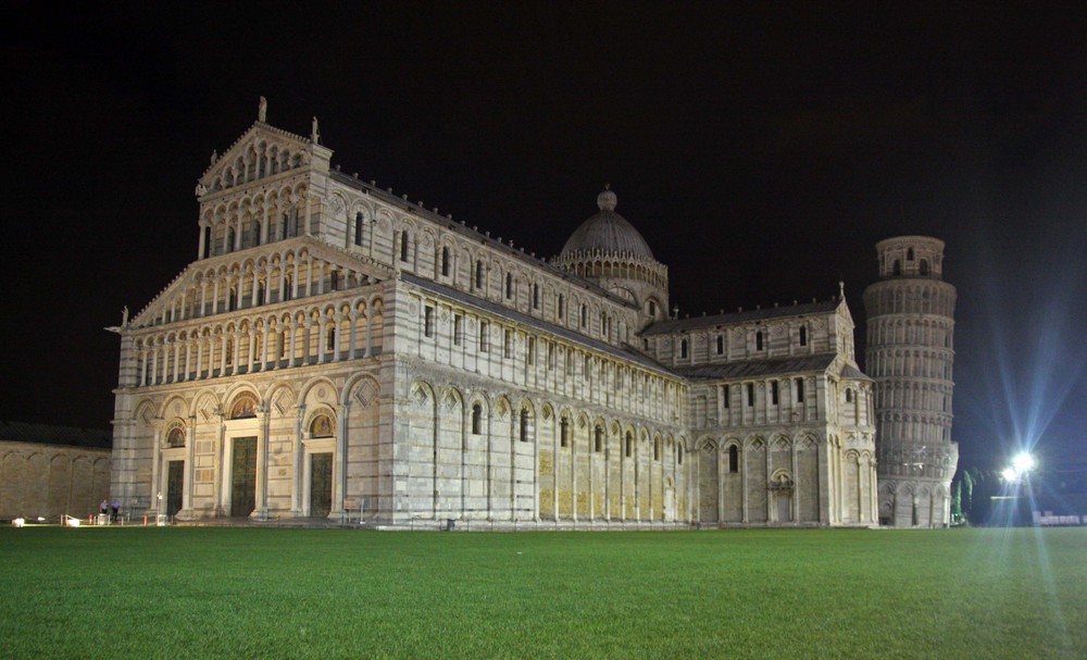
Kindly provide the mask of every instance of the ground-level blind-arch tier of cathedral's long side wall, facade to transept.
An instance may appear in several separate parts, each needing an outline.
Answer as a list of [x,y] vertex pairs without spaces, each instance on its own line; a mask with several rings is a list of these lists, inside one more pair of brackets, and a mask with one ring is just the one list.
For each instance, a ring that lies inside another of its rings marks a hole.
[[687,520],[671,429],[415,360],[398,371],[398,520]]

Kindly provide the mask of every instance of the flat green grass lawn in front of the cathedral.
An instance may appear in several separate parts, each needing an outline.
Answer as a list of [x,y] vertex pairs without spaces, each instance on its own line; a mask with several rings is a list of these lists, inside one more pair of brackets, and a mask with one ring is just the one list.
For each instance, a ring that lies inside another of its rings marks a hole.
[[0,530],[2,658],[1087,658],[1087,530]]

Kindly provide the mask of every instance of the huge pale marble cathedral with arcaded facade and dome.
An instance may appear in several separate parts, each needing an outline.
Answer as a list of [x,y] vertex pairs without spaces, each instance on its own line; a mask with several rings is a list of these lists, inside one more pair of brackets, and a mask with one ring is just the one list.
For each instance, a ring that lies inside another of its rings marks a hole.
[[196,260],[112,328],[112,496],[380,528],[879,523],[840,291],[678,319],[609,189],[540,259],[332,157],[263,100],[213,154]]

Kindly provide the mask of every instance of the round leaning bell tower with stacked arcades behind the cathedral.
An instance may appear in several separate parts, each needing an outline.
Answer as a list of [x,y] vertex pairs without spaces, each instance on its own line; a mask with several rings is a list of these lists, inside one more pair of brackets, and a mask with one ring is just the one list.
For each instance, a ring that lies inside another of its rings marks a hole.
[[944,282],[944,241],[898,236],[876,244],[879,281],[864,290],[865,371],[875,379],[879,522],[950,522],[951,366],[955,290]]

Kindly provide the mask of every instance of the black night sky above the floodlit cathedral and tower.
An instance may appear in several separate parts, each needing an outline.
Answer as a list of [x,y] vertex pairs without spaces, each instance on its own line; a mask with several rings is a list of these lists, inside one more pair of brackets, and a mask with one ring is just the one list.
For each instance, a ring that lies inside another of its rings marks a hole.
[[680,315],[844,281],[862,366],[876,241],[942,238],[960,465],[1087,459],[1087,10],[872,4],[9,4],[0,419],[109,427],[103,327],[195,259],[264,96],[538,256],[610,183]]

